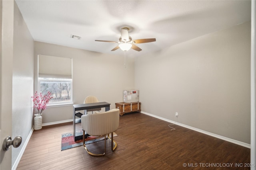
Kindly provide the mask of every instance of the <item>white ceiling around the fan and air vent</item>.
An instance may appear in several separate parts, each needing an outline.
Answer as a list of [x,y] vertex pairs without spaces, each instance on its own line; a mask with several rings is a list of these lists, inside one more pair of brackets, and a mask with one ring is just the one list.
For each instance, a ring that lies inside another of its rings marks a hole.
[[[250,21],[250,0],[16,0],[35,41],[123,55],[120,29],[132,39],[156,38],[138,44],[127,56],[139,56]],[[80,40],[70,35],[79,35]]]

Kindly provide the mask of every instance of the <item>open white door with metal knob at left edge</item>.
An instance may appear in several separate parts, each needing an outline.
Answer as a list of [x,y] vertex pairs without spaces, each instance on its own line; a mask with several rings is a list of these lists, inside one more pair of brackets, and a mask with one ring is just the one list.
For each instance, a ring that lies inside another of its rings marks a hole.
[[0,0],[0,169],[12,169],[12,147],[3,149],[6,137],[12,137],[12,60],[14,1]]

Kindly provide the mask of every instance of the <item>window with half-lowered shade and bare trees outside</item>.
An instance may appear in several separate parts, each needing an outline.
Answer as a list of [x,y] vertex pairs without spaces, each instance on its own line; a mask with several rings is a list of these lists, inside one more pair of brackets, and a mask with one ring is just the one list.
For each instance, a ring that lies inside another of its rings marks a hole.
[[72,103],[72,59],[38,55],[38,92],[49,91],[49,105]]

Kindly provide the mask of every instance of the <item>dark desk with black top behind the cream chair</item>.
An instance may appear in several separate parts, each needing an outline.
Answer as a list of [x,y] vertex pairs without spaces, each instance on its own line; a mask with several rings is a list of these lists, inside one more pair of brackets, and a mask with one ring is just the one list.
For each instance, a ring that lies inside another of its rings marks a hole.
[[76,123],[81,123],[81,118],[76,116],[76,111],[85,110],[84,113],[87,113],[87,109],[95,109],[99,107],[105,107],[105,111],[110,109],[110,104],[107,102],[98,102],[98,103],[88,103],[88,104],[74,104],[73,105],[73,136],[74,141],[83,139],[83,132],[76,133]]

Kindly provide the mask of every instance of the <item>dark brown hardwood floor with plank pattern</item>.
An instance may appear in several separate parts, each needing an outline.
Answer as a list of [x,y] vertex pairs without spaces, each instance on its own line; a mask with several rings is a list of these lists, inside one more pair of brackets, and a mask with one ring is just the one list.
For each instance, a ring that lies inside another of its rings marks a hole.
[[[141,169],[250,169],[250,149],[178,125],[130,113],[120,117],[117,148],[91,156],[84,148],[61,149],[61,134],[72,133],[72,123],[44,126],[34,131],[17,170],[141,170]],[[86,145],[98,149],[104,141]],[[241,166],[241,167],[238,167]]]

